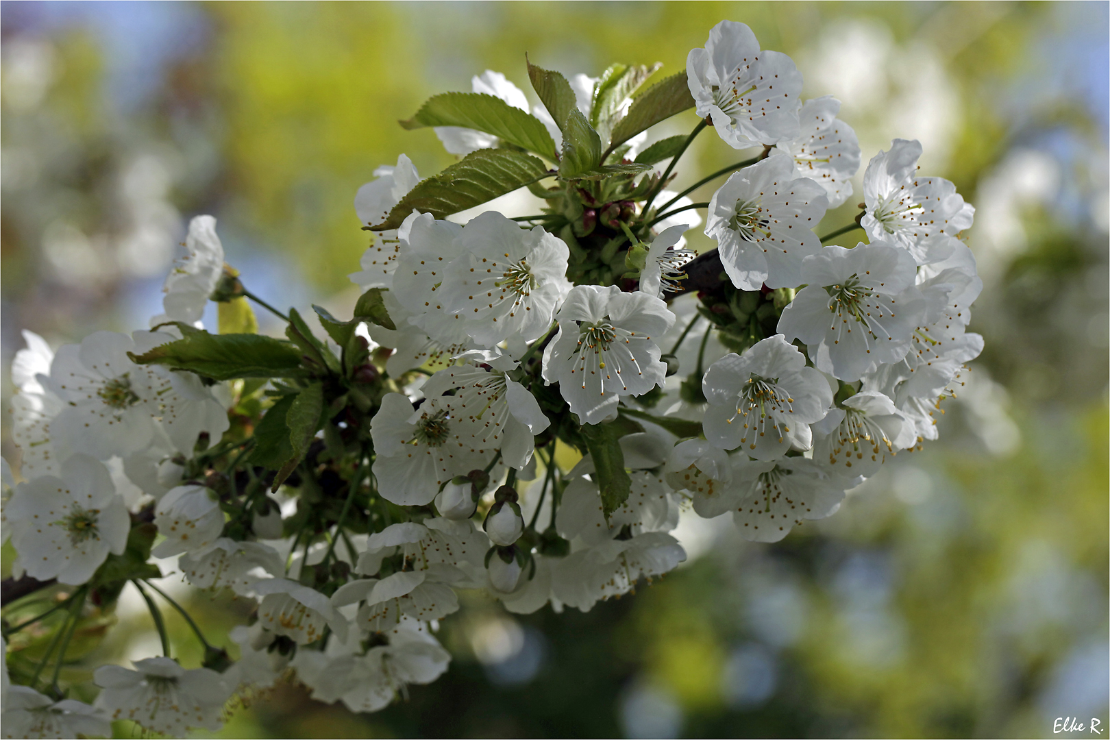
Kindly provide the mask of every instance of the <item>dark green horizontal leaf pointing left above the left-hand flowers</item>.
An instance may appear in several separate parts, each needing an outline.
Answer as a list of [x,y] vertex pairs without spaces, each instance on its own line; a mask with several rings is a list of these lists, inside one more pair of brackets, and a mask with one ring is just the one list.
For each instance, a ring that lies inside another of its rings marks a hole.
[[302,377],[301,352],[287,342],[261,334],[209,334],[196,331],[141,355],[140,365],[165,365],[216,381],[238,377]]

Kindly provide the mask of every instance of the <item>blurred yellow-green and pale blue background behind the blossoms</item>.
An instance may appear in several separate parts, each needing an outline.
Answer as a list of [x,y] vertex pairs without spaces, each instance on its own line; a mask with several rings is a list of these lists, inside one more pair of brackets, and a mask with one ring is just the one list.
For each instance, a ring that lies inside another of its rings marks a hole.
[[[1104,2],[0,3],[4,405],[20,330],[57,346],[147,327],[190,216],[219,217],[255,293],[342,310],[366,241],[355,190],[401,152],[423,174],[452,159],[430,130],[396,124],[426,97],[468,90],[485,69],[528,90],[525,52],[568,73],[610,61],[673,73],[726,18],[794,57],[807,97],[844,102],[865,163],[891,138],[919,139],[922,172],[977,206],[969,243],[986,287],[971,330],[987,348],[946,402],[940,442],[776,545],[718,520],[686,526],[683,567],[588,614],[514,617],[467,599],[440,632],[450,672],[385,711],[351,714],[284,686],[219,737],[1110,724]],[[655,135],[695,122],[684,113]],[[703,135],[679,184],[735,159]],[[7,426],[3,452],[16,459]],[[158,651],[134,601],[95,659]],[[206,596],[191,608],[224,645],[248,614]],[[175,646],[196,665],[175,616]]]

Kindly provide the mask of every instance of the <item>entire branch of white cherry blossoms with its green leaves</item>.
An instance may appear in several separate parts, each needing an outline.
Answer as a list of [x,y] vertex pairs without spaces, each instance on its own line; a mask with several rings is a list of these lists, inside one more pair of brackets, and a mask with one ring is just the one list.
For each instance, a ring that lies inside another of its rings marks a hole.
[[[743,23],[685,73],[655,70],[529,63],[537,103],[496,72],[427,101],[403,124],[462,159],[421,180],[402,154],[359,190],[351,320],[262,302],[196,216],[149,331],[57,352],[24,333],[6,737],[215,730],[233,697],[290,680],[375,711],[447,670],[435,633],[462,590],[588,610],[685,560],[682,517],[777,541],[936,438],[982,349],[973,209],[895,140],[855,223],[820,237],[860,166],[839,103],[804,101],[794,62]],[[688,109],[693,133],[648,143]],[[665,187],[707,128],[750,152],[695,204]],[[446,217],[525,186],[543,213]],[[717,249],[695,255],[683,233],[703,222]],[[866,243],[830,244],[857,230]],[[256,333],[248,300],[284,338]],[[162,610],[188,616],[159,586],[172,575],[254,605],[228,643],[194,626],[200,667],[165,636]],[[71,699],[71,638],[124,588],[163,655],[101,666],[95,701]]]

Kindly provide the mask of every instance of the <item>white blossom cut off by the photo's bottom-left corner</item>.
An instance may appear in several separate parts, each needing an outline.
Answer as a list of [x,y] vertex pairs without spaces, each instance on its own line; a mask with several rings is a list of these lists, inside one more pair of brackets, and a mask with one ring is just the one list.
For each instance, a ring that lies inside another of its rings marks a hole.
[[112,734],[111,722],[75,699],[54,701],[29,686],[12,686],[0,713],[6,738],[75,738]]

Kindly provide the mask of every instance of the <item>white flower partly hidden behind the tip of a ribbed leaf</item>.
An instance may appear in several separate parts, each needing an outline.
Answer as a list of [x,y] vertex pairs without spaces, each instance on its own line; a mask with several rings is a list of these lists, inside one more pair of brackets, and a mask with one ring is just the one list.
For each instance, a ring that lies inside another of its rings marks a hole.
[[[381,166],[374,170],[374,178],[376,180],[360,187],[354,196],[354,210],[364,226],[374,226],[385,221],[393,206],[420,182],[416,168],[404,154],[397,156],[395,168]],[[403,229],[371,232],[370,246],[360,260],[362,271],[350,275],[352,283],[363,291],[393,285],[393,271],[401,250],[400,231]]]

